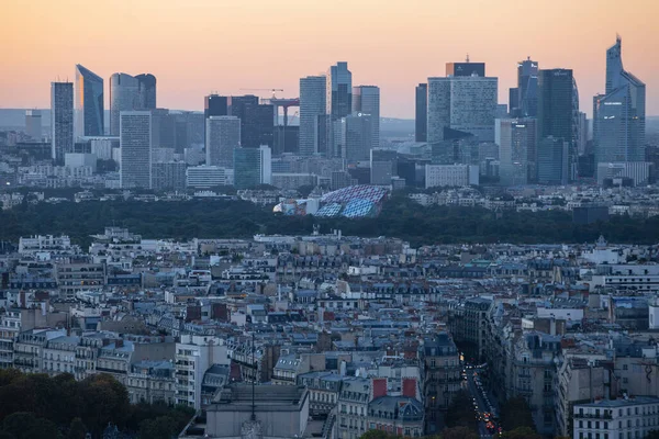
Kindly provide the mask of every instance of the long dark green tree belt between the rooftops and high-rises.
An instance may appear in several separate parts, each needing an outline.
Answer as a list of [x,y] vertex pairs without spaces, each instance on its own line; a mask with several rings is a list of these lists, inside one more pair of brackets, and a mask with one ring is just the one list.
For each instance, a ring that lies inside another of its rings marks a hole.
[[145,238],[249,238],[255,234],[310,234],[342,229],[344,235],[399,237],[414,246],[456,243],[558,244],[592,243],[604,235],[612,243],[659,241],[659,217],[614,216],[607,222],[572,224],[570,213],[503,212],[481,207],[421,206],[405,196],[388,200],[377,217],[323,218],[272,213],[247,201],[191,200],[60,204],[23,203],[0,212],[0,241],[21,236],[66,234],[88,246],[89,235],[108,225],[129,227]]

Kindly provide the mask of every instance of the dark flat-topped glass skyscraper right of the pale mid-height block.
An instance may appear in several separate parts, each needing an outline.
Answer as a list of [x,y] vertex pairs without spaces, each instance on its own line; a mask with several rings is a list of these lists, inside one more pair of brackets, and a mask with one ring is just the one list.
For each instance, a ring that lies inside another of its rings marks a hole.
[[[549,145],[543,143],[546,137],[562,139],[568,145],[568,154],[562,159],[568,169],[568,180],[576,177],[578,110],[577,88],[570,69],[540,70],[538,75],[538,173],[540,172],[539,157],[545,155],[540,149]],[[577,113],[576,113],[577,110]],[[552,155],[557,157],[557,155]],[[563,169],[562,167],[560,169]]]

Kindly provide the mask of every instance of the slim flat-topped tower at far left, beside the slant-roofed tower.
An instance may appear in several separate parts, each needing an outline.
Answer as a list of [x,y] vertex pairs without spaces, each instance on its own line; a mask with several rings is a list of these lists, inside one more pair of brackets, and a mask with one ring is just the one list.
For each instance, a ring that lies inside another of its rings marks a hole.
[[74,150],[74,85],[51,82],[51,149],[56,165]]

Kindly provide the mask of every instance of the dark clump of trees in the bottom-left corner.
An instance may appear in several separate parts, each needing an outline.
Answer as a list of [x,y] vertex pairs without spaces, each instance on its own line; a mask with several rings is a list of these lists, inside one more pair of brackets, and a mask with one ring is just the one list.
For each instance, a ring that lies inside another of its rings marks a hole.
[[126,387],[109,374],[74,375],[0,370],[0,439],[100,438],[113,426],[126,437],[167,439],[192,418],[189,407],[132,405]]

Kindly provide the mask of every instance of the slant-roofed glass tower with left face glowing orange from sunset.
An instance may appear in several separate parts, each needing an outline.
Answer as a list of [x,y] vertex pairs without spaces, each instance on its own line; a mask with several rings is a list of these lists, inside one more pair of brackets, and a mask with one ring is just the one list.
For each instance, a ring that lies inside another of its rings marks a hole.
[[76,137],[105,135],[103,78],[85,66],[76,65]]

